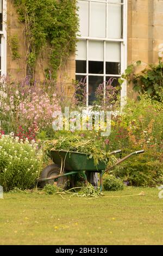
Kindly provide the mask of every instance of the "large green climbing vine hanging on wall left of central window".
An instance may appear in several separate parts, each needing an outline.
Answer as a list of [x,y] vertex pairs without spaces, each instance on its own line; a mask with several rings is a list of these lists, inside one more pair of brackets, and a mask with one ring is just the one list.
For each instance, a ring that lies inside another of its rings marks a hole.
[[[50,46],[52,77],[76,49],[78,15],[76,0],[13,0],[25,25],[27,72],[33,75],[39,55]],[[49,70],[49,67],[47,67]]]

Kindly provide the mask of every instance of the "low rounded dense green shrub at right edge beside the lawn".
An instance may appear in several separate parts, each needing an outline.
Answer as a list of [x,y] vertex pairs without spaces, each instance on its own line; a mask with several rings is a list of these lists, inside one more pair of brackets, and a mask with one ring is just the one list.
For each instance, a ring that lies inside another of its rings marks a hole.
[[163,181],[162,153],[146,149],[144,154],[132,157],[117,168],[117,175],[130,186],[155,186]]

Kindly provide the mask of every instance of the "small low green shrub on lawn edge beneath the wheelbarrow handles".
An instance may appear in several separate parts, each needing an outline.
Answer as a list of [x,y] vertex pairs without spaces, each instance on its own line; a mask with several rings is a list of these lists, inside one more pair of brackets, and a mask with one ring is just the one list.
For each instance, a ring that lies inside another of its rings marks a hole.
[[104,179],[103,187],[105,191],[116,191],[123,190],[124,185],[120,179],[117,179],[115,176],[108,175]]

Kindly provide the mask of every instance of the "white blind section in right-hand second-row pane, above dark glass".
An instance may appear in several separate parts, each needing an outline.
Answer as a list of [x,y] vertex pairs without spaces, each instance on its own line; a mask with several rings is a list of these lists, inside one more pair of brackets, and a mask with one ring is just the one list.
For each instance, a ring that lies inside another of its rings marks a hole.
[[106,62],[120,62],[121,48],[119,42],[106,42]]

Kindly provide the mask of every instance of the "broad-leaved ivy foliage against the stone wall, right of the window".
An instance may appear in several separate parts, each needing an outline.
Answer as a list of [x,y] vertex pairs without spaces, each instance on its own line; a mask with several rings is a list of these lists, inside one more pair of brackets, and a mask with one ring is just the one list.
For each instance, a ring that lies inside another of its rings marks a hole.
[[158,64],[151,64],[143,69],[140,73],[136,73],[136,66],[141,65],[139,60],[135,64],[127,67],[122,79],[119,82],[122,84],[124,79],[128,83],[133,83],[133,90],[141,94],[148,94],[152,99],[159,102],[163,101],[163,62],[159,58]]

